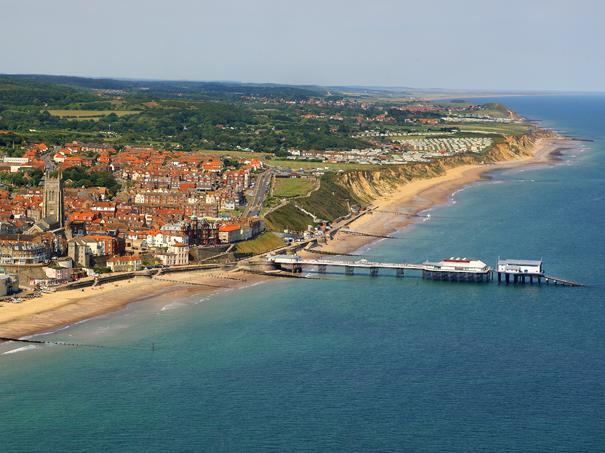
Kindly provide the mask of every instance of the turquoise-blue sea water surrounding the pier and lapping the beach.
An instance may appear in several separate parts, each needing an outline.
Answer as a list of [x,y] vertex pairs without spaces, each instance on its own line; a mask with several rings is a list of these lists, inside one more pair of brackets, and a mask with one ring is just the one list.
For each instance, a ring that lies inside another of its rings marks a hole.
[[46,337],[106,348],[0,355],[0,451],[602,451],[605,97],[502,101],[595,141],[363,253],[543,258],[586,288],[331,275],[148,300]]

